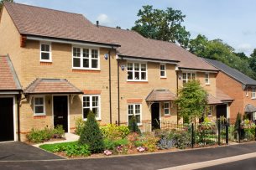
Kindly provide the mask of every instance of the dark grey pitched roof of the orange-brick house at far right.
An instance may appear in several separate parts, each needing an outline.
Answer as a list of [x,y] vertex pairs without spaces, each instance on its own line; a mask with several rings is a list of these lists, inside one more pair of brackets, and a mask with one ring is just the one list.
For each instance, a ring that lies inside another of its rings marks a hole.
[[223,73],[231,76],[233,79],[238,80],[243,85],[256,85],[256,80],[248,77],[248,75],[244,75],[238,70],[232,69],[231,67],[223,64],[220,61],[213,59],[205,59],[207,63],[212,64],[218,70],[221,70]]

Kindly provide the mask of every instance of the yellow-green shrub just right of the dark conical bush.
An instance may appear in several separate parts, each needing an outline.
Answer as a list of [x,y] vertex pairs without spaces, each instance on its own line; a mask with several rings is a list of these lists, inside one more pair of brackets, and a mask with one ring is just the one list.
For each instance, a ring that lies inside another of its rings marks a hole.
[[103,137],[110,140],[125,138],[130,133],[128,126],[108,124],[107,126],[100,126],[100,129],[102,131]]

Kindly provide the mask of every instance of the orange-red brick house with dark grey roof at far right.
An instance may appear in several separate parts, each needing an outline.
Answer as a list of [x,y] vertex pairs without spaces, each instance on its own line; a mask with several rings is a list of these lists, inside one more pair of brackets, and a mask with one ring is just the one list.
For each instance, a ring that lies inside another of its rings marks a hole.
[[[212,64],[219,71],[216,82],[217,88],[222,89],[225,94],[234,100],[230,105],[230,119],[235,121],[239,113],[248,114],[248,118],[255,121],[256,113],[256,80],[251,79],[238,70],[232,69],[220,61],[206,59],[206,62]],[[222,112],[226,116],[226,112]]]

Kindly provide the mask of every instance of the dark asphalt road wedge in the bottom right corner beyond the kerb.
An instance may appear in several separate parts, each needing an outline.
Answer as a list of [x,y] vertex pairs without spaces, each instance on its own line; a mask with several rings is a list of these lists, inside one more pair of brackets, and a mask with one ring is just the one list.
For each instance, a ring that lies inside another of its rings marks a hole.
[[201,168],[201,170],[227,170],[227,169],[255,170],[256,169],[256,157],[250,158],[250,159],[245,159],[243,161],[238,161],[238,162],[225,163],[225,164],[214,166],[214,167]]

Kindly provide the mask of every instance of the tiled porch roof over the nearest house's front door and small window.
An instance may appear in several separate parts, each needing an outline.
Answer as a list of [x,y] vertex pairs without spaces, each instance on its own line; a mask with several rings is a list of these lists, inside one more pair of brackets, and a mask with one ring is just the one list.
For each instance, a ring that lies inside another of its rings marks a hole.
[[65,79],[36,79],[24,94],[82,94],[83,92]]

